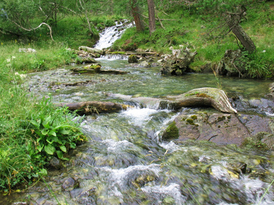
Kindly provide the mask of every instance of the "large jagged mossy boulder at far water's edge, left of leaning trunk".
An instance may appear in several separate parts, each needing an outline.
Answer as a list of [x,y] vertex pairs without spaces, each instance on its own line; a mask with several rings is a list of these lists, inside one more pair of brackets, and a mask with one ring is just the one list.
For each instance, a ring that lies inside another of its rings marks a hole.
[[181,75],[184,72],[191,72],[189,68],[190,64],[194,61],[197,52],[190,52],[190,49],[184,49],[184,46],[180,46],[180,49],[173,49],[171,46],[173,55],[165,57],[164,64],[160,69],[162,74]]

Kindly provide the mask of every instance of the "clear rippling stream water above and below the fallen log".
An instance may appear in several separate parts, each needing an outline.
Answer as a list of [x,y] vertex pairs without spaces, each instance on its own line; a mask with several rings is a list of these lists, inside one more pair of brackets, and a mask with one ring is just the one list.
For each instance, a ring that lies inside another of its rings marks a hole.
[[[129,74],[79,75],[71,74],[68,67],[29,74],[30,90],[38,96],[51,95],[54,102],[122,102],[105,92],[162,97],[216,87],[213,74],[165,77],[159,67],[138,68],[122,60],[100,62],[102,69]],[[220,80],[229,96],[245,99],[263,98],[270,83]],[[79,81],[88,83],[64,85]],[[136,107],[86,116],[81,126],[89,141],[70,153],[66,168],[49,172],[45,180],[51,191],[40,182],[21,197],[32,204],[259,204],[273,180],[273,153],[245,153],[202,141],[161,141],[177,114]],[[273,189],[261,204],[274,204]]]

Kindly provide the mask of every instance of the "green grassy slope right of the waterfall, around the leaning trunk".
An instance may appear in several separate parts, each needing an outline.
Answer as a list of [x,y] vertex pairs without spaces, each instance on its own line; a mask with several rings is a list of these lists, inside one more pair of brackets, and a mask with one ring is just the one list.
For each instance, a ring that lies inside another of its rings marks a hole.
[[[250,77],[274,76],[274,2],[253,5],[247,10],[246,19],[240,24],[256,45],[255,55],[245,59],[249,61],[247,68]],[[140,33],[135,28],[127,29],[120,40],[112,46],[113,50],[151,49],[159,53],[171,53],[169,47],[175,49],[184,45],[197,51],[194,63],[190,67],[199,70],[201,66],[218,64],[227,49],[241,49],[240,42],[232,32],[221,36],[224,27],[219,27],[222,20],[214,14],[205,14],[192,10],[176,10],[164,14],[158,12],[162,25],[158,20],[157,29],[150,35],[147,28]]]

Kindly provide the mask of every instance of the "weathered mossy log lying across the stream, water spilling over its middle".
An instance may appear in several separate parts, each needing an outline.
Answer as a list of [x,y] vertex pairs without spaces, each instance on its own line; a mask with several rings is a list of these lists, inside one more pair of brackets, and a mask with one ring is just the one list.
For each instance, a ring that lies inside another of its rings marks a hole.
[[[236,109],[230,104],[225,92],[212,87],[202,87],[190,90],[178,96],[167,96],[164,99],[134,97],[123,94],[107,94],[114,98],[120,98],[129,102],[136,102],[142,107],[150,107],[153,109],[180,109],[182,107],[214,107],[214,109],[224,113],[237,113]],[[123,105],[114,102],[75,102],[62,103],[58,106],[69,107],[69,110],[76,111],[80,114],[100,113],[100,112],[115,112],[126,110],[129,105]]]

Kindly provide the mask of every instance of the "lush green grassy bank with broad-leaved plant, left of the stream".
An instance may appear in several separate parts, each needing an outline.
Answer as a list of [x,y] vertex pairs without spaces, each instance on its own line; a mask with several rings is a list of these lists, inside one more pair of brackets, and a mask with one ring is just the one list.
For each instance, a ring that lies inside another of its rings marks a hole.
[[22,46],[0,46],[0,190],[5,193],[32,184],[47,173],[53,156],[67,160],[68,151],[86,140],[73,122],[75,115],[50,99],[38,100],[22,84],[24,72],[66,64],[71,52],[60,44],[29,45],[36,52],[19,52]]

